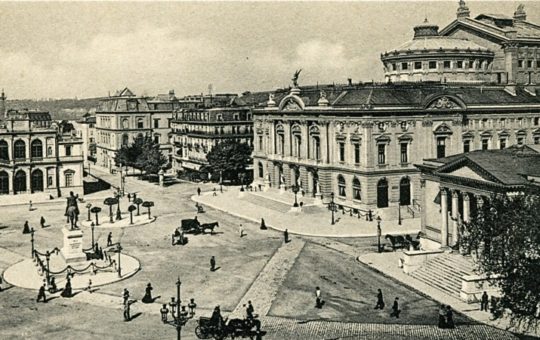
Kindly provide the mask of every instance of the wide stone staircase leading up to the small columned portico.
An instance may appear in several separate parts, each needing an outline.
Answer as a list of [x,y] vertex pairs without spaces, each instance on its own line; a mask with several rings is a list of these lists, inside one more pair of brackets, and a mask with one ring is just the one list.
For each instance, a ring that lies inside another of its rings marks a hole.
[[443,253],[427,261],[421,268],[412,272],[411,276],[446,294],[460,298],[461,277],[474,274],[473,268],[474,264],[469,258],[459,254]]

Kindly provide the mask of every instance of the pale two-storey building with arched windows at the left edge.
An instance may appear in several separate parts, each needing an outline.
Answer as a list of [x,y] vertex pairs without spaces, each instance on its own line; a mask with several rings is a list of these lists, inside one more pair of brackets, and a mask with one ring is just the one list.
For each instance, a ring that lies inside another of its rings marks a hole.
[[7,111],[0,127],[0,194],[83,194],[82,143],[61,133],[48,112]]

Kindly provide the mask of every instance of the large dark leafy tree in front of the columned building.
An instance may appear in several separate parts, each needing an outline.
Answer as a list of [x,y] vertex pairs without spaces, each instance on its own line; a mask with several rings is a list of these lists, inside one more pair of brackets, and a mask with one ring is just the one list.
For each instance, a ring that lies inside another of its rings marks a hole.
[[480,253],[480,272],[497,278],[501,299],[494,315],[505,310],[513,326],[538,327],[540,306],[540,195],[498,194],[485,199],[462,231],[464,245]]

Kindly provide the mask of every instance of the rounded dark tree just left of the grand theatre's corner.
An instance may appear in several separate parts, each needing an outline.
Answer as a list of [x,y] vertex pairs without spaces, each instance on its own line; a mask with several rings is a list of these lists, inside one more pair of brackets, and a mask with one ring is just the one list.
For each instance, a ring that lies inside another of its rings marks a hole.
[[238,174],[245,173],[251,164],[251,152],[249,145],[227,140],[210,150],[206,159],[215,174],[222,173],[224,179],[237,180]]

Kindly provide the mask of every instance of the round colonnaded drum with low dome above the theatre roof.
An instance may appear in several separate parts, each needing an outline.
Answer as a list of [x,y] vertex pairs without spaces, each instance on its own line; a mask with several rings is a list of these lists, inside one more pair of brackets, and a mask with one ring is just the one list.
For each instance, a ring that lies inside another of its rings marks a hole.
[[475,42],[441,36],[427,19],[414,27],[411,41],[381,54],[387,82],[492,81],[495,53]]

